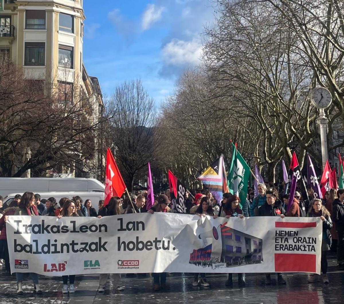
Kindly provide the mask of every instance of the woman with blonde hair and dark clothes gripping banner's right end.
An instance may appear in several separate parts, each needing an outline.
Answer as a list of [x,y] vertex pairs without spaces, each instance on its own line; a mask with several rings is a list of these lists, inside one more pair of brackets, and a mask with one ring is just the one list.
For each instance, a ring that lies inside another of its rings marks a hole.
[[[322,280],[323,283],[329,283],[329,278],[327,278],[327,251],[330,250],[332,238],[331,232],[332,229],[332,220],[330,212],[322,204],[320,199],[315,199],[313,205],[310,206],[308,217],[320,217],[323,223],[323,234],[322,234],[322,243],[321,243],[321,271],[322,271]],[[310,274],[308,277],[308,282],[317,282],[318,275]]]

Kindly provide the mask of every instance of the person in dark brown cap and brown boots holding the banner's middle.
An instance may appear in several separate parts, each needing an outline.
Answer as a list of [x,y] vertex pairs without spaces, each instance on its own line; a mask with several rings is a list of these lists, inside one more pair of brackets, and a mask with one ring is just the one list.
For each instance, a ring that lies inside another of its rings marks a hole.
[[[166,194],[160,194],[157,198],[158,204],[152,206],[147,212],[154,214],[154,212],[172,212],[176,213],[171,209],[168,204],[170,203],[169,198]],[[154,291],[169,290],[170,287],[166,285],[166,272],[152,273],[154,278]]]

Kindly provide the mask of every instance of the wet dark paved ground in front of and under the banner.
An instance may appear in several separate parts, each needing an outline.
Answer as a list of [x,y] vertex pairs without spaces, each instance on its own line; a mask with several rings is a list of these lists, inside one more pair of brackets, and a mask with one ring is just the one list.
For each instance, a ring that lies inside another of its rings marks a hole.
[[336,256],[329,255],[329,270],[327,275],[330,284],[322,281],[307,283],[307,274],[284,274],[286,285],[277,284],[277,275],[272,275],[272,284],[265,285],[263,274],[247,274],[246,286],[239,288],[237,275],[233,275],[233,287],[226,287],[225,275],[208,275],[210,287],[193,287],[193,276],[182,274],[169,274],[167,283],[169,291],[153,292],[153,278],[146,277],[127,278],[122,275],[124,291],[117,291],[113,286],[110,275],[106,291],[97,292],[98,276],[77,276],[75,280],[76,292],[62,294],[62,280],[60,277],[40,276],[40,286],[44,293],[33,294],[33,284],[28,276],[24,276],[24,295],[17,296],[15,275],[3,275],[4,267],[0,266],[0,304],[30,303],[30,304],[93,304],[93,303],[344,303],[344,271],[336,267]]

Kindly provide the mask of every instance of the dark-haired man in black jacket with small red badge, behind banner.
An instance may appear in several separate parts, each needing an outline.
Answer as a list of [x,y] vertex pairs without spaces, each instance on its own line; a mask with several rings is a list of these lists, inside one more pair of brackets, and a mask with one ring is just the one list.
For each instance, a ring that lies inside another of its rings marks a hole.
[[[282,207],[282,202],[278,200],[278,194],[275,190],[266,192],[266,202],[258,209],[258,216],[281,216],[286,215],[286,210]],[[286,284],[282,274],[277,273],[277,280],[280,284]],[[266,274],[265,284],[271,284],[271,274]]]

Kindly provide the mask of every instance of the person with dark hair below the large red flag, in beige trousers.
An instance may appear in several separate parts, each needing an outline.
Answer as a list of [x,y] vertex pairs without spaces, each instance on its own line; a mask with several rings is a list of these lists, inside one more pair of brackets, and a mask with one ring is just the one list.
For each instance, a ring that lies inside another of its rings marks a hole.
[[[99,210],[98,217],[121,214],[120,203],[121,203],[120,197],[115,197],[115,196],[111,197],[109,203]],[[98,286],[99,292],[105,291],[105,286],[108,280],[108,276],[109,276],[108,273],[101,273],[99,275],[99,286]],[[122,286],[121,275],[119,273],[114,273],[113,277],[114,277],[114,286],[117,286],[116,289],[118,291],[123,291],[124,286]]]

